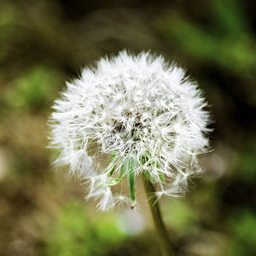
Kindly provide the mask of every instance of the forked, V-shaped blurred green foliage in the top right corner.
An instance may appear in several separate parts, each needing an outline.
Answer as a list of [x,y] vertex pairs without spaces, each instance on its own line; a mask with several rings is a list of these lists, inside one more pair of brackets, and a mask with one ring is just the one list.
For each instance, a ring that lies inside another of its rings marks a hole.
[[158,21],[161,32],[197,60],[212,61],[229,73],[239,72],[241,77],[252,75],[256,66],[255,40],[246,33],[247,20],[239,5],[235,0],[211,2],[212,29],[172,12]]

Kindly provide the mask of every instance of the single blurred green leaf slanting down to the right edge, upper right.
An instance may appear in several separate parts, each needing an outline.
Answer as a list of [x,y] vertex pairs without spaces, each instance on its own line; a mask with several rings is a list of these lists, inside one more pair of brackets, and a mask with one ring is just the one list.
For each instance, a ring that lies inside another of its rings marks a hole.
[[239,73],[241,77],[255,71],[255,40],[249,34],[215,35],[177,13],[163,15],[157,26],[177,48],[195,59],[212,61],[231,73]]

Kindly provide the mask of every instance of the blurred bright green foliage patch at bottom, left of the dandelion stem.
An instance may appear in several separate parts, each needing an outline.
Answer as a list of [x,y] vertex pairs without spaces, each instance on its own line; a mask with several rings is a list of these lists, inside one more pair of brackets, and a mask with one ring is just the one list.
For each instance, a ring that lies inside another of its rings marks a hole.
[[67,203],[47,230],[46,253],[55,256],[112,255],[125,240],[113,214],[94,218],[79,203]]

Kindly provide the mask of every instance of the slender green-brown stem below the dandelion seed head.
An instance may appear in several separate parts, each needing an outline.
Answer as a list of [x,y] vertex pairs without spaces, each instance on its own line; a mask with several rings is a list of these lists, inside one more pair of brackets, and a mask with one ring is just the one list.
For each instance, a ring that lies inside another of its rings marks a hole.
[[160,243],[160,248],[164,256],[174,256],[175,253],[172,249],[172,241],[168,235],[166,230],[166,226],[161,218],[160,207],[157,201],[152,200],[152,196],[154,195],[155,189],[154,185],[144,177],[143,178],[144,189],[146,191],[146,195],[148,198],[148,205],[150,207],[152,218],[154,219],[154,227],[156,230],[156,234],[158,236],[158,240]]

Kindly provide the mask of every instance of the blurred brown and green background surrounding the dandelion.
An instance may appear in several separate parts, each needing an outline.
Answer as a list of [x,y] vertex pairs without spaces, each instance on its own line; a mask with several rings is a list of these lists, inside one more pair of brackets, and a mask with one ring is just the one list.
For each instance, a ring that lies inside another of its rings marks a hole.
[[211,105],[207,173],[160,201],[178,255],[256,255],[255,21],[253,0],[1,0],[0,255],[160,255],[140,183],[137,211],[97,212],[46,148],[65,81],[120,49],[177,61]]

